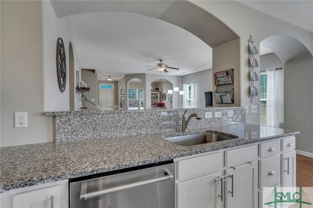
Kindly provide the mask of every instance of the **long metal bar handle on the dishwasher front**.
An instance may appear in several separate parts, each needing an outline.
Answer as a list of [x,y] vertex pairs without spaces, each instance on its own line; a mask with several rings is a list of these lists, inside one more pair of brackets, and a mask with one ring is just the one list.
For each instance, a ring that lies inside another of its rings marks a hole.
[[98,196],[102,196],[102,195],[106,195],[106,194],[110,194],[110,193],[114,193],[114,192],[118,192],[118,191],[122,191],[122,190],[127,190],[127,189],[131,189],[131,188],[135,188],[135,187],[141,187],[141,186],[145,186],[148,184],[154,184],[154,183],[158,183],[161,181],[167,181],[167,180],[172,180],[174,178],[174,175],[167,169],[167,167],[163,167],[166,176],[160,177],[160,178],[155,178],[155,179],[150,179],[150,180],[146,180],[146,181],[140,181],[134,184],[127,184],[127,185],[123,185],[120,187],[113,187],[113,188],[108,188],[108,189],[104,189],[104,190],[100,190],[100,191],[93,191],[90,193],[86,193],[87,190],[87,181],[82,183],[82,187],[81,187],[81,191],[80,191],[80,201],[85,201],[87,199],[91,199],[94,197],[98,197]]

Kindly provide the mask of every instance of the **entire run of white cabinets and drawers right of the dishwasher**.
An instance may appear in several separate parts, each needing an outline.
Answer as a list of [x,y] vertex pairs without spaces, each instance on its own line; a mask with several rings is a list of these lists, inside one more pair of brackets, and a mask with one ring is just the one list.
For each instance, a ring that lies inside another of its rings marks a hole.
[[295,187],[294,146],[292,136],[175,159],[177,208],[261,206],[264,187]]

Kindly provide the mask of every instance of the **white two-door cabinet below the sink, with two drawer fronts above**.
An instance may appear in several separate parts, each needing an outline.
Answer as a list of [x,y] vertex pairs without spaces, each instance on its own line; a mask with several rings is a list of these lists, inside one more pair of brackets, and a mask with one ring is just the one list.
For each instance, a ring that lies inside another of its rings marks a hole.
[[257,207],[257,159],[257,145],[177,159],[177,208]]

